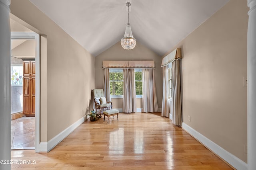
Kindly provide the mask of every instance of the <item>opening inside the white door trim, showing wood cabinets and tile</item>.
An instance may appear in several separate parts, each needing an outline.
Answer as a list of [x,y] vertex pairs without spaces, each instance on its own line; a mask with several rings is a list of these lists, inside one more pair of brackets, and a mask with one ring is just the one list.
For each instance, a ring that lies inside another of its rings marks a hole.
[[[11,149],[35,149],[35,39],[11,39]],[[31,67],[31,68],[30,68]],[[28,74],[26,74],[28,73]],[[32,95],[33,94],[33,95]]]

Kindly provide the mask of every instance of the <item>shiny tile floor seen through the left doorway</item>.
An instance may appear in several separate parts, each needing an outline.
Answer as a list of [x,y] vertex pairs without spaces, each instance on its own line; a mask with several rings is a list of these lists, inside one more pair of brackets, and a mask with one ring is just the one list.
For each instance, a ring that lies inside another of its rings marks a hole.
[[12,149],[35,149],[35,117],[20,117],[11,123]]

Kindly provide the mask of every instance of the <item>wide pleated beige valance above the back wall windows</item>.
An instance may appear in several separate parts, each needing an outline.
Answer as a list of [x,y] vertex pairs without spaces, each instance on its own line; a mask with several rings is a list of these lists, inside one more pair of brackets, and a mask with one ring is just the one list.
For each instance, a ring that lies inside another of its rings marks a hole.
[[102,68],[154,68],[154,61],[103,61]]

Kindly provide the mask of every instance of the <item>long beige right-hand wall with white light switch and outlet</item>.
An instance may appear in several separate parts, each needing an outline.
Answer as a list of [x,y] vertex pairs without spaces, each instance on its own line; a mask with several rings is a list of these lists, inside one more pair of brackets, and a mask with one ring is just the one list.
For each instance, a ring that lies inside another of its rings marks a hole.
[[182,48],[183,57],[184,123],[244,162],[247,12],[246,1],[230,0],[176,45]]

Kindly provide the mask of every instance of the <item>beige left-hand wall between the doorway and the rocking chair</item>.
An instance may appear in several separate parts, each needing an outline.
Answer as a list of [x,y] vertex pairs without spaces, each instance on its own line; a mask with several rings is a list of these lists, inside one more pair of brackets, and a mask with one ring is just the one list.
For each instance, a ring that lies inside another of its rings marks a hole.
[[[49,141],[92,109],[94,57],[29,0],[12,0],[11,13],[47,41],[41,63],[40,139]],[[47,75],[45,75],[46,73]],[[47,108],[45,108],[47,107]],[[42,128],[43,127],[43,128]]]

